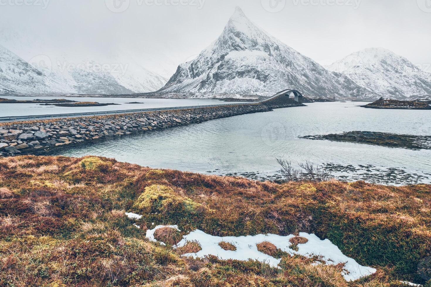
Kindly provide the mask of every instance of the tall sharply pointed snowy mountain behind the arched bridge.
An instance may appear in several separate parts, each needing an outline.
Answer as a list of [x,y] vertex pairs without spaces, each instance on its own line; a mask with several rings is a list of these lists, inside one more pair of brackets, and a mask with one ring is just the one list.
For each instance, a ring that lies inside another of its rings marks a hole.
[[270,36],[239,7],[219,38],[197,58],[179,65],[159,93],[269,96],[287,88],[311,97],[375,96]]

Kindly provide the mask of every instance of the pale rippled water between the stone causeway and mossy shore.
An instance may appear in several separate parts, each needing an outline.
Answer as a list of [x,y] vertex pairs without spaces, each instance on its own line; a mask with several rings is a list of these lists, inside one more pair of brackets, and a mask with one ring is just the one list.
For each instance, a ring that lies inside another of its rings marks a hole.
[[[147,101],[147,100],[144,100]],[[211,120],[57,152],[199,173],[275,178],[276,158],[326,164],[340,179],[384,184],[430,182],[431,151],[299,139],[365,130],[431,135],[431,111],[360,108],[354,102],[312,103]]]

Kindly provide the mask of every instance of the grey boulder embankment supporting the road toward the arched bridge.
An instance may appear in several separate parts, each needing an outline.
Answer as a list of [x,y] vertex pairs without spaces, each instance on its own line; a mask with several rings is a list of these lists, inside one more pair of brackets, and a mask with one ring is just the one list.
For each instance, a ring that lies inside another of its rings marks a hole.
[[68,145],[301,105],[292,101],[277,101],[273,104],[224,105],[189,110],[5,123],[0,126],[0,154],[40,154]]

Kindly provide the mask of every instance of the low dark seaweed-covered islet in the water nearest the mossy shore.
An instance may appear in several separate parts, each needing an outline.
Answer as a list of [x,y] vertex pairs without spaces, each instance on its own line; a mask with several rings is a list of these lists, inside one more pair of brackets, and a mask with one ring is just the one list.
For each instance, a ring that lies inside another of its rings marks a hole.
[[329,140],[333,142],[355,142],[367,145],[380,145],[391,148],[406,148],[412,150],[431,149],[431,136],[354,131],[341,134],[301,136],[300,138]]

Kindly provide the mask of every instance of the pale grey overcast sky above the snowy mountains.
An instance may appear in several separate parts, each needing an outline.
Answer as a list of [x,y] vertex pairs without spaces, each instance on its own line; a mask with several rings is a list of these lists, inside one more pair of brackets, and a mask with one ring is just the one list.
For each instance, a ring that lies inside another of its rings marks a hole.
[[431,0],[0,0],[0,43],[26,60],[130,53],[172,74],[219,36],[235,6],[322,65],[383,47],[431,72]]

